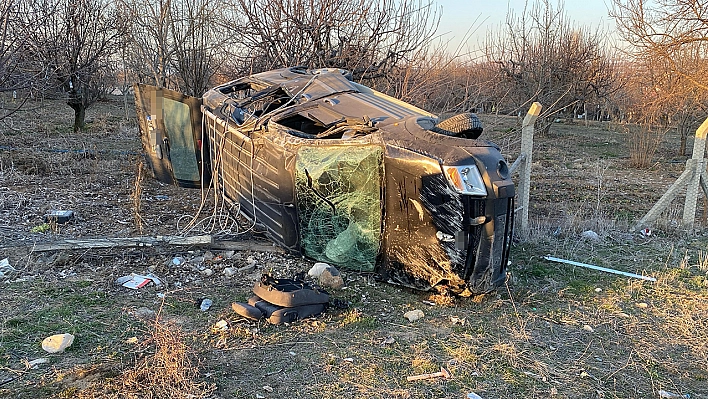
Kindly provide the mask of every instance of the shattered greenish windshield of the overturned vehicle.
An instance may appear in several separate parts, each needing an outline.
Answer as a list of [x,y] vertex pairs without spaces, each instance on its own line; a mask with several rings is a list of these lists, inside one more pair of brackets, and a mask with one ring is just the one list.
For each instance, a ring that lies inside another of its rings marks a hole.
[[381,243],[379,146],[300,147],[295,186],[303,252],[372,271]]

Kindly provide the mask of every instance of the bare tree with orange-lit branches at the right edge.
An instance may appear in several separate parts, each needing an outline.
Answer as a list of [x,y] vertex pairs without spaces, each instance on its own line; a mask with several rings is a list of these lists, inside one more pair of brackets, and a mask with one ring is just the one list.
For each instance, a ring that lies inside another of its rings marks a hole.
[[675,126],[686,140],[708,108],[708,4],[702,0],[614,0],[612,15],[642,79],[633,106],[646,126]]

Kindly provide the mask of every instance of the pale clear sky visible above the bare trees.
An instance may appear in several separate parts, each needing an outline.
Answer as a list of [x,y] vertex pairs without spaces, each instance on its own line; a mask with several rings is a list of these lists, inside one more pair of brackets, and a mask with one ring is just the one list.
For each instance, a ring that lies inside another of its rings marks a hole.
[[[506,20],[507,10],[514,10],[521,15],[524,10],[524,0],[434,0],[442,7],[442,17],[438,33],[444,40],[449,40],[449,48],[457,48],[462,44],[466,48],[477,48],[484,41],[488,31],[499,28]],[[531,8],[534,0],[528,0]],[[558,0],[550,0],[555,8]],[[614,21],[608,14],[611,0],[567,0],[563,8],[571,21],[578,25],[591,28],[601,27],[612,30]],[[463,38],[469,33],[469,39]],[[466,44],[466,46],[465,46]]]

